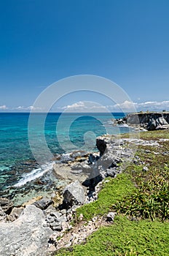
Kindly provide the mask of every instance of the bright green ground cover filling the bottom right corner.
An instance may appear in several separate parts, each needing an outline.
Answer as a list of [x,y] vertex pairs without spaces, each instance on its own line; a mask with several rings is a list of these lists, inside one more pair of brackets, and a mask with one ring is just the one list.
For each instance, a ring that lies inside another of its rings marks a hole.
[[101,227],[87,239],[87,244],[61,249],[57,255],[74,256],[168,256],[169,223],[131,222],[117,216],[114,225]]

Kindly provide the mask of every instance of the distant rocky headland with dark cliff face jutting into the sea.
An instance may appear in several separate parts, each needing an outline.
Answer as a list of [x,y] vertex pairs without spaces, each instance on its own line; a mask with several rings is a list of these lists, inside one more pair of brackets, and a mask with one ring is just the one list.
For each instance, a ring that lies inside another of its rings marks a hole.
[[124,118],[114,120],[114,124],[127,124],[131,127],[140,127],[148,131],[169,129],[169,112],[138,112],[129,113]]

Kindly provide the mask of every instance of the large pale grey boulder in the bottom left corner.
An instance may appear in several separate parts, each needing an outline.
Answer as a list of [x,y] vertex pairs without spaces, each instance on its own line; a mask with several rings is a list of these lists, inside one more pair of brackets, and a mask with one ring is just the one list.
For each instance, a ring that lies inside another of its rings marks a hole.
[[47,255],[52,230],[45,226],[43,211],[36,206],[26,206],[14,222],[0,223],[0,255]]

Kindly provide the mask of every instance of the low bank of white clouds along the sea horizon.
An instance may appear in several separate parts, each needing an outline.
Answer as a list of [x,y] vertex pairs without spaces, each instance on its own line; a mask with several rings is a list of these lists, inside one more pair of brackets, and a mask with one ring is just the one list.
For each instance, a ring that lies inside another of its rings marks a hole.
[[[169,100],[162,101],[162,102],[130,102],[125,101],[120,104],[114,105],[100,105],[96,102],[75,102],[72,105],[66,105],[63,107],[52,108],[51,112],[79,112],[79,113],[105,113],[105,112],[130,112],[132,107],[135,107],[137,111],[162,111],[162,110],[169,110]],[[18,106],[16,108],[9,108],[6,105],[0,106],[0,112],[45,112],[45,109],[42,108],[34,108],[34,106]]]

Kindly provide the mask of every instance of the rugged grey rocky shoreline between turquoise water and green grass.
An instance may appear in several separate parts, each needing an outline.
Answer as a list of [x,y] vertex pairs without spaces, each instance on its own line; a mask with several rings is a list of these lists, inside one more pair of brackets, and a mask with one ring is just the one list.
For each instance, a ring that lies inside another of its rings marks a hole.
[[1,197],[0,255],[50,255],[62,247],[84,242],[98,227],[109,225],[115,213],[87,223],[83,223],[81,215],[81,225],[76,227],[72,222],[76,208],[97,200],[106,177],[115,178],[127,162],[140,161],[133,150],[138,145],[158,143],[103,135],[96,140],[98,153],[76,151],[66,159],[56,157],[53,172],[67,185],[52,189],[50,196],[34,197],[15,207],[11,200]]

